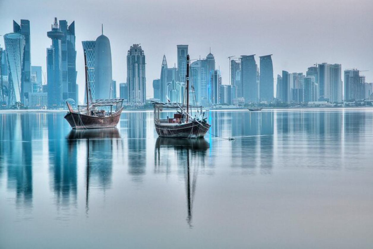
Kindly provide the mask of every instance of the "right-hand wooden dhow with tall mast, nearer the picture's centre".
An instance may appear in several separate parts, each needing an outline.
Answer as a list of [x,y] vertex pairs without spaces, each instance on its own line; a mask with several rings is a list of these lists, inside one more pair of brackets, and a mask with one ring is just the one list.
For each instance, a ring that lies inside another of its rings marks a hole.
[[[162,138],[203,138],[210,129],[204,118],[203,107],[189,106],[189,54],[186,55],[186,105],[181,103],[153,102],[154,125],[159,137]],[[176,110],[173,117],[161,119],[161,111],[164,109]],[[195,116],[192,110],[196,109]]]

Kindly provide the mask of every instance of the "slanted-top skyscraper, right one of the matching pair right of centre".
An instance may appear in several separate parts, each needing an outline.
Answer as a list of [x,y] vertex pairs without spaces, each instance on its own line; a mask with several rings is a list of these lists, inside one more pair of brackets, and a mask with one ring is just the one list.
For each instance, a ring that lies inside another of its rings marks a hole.
[[260,101],[270,103],[273,100],[272,54],[260,58]]

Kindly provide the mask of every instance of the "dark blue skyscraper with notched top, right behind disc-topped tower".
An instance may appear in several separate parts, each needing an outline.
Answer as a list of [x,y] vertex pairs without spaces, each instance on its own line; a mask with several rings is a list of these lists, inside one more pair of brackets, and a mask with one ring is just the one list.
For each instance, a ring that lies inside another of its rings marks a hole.
[[77,104],[75,21],[70,25],[66,20],[60,20],[59,23],[60,30],[65,34],[61,39],[62,98],[64,101],[72,99]]

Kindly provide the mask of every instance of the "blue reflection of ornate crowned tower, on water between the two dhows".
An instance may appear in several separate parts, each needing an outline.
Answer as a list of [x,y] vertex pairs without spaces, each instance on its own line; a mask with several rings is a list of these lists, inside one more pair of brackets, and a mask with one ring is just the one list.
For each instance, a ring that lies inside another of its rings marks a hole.
[[129,112],[128,141],[128,173],[134,181],[142,181],[146,173],[146,112]]

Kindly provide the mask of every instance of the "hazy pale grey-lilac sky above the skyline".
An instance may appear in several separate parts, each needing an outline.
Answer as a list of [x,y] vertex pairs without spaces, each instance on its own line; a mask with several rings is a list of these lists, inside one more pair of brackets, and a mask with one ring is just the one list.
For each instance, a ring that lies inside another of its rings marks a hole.
[[[78,84],[84,94],[82,40],[104,35],[111,42],[113,79],[125,82],[129,47],[140,43],[147,65],[147,96],[160,77],[163,54],[176,63],[176,45],[191,59],[215,55],[223,84],[230,55],[273,54],[274,78],[282,70],[305,72],[314,63],[357,68],[373,82],[373,0],[0,0],[0,35],[12,20],[31,22],[32,65],[46,71],[53,18],[75,20]],[[4,47],[3,39],[0,44]],[[259,64],[259,58],[256,58]],[[119,92],[118,92],[119,94]]]

